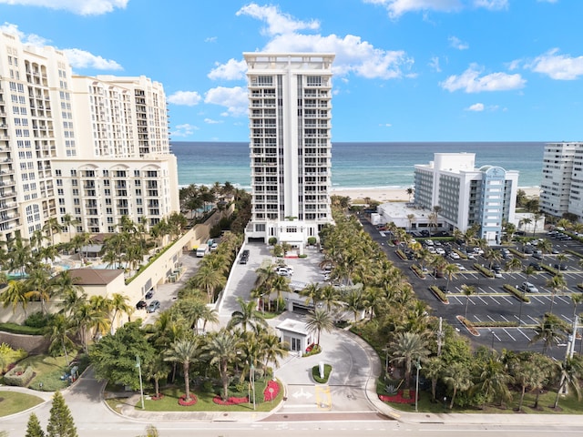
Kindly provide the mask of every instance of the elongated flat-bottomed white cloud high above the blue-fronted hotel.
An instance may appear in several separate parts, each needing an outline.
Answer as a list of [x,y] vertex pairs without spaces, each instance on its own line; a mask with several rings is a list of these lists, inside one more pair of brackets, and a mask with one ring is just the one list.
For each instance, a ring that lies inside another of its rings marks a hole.
[[527,81],[522,76],[506,73],[492,73],[480,76],[482,71],[476,65],[471,65],[460,76],[449,76],[439,85],[454,92],[463,89],[466,93],[480,93],[483,91],[508,91],[523,88]]

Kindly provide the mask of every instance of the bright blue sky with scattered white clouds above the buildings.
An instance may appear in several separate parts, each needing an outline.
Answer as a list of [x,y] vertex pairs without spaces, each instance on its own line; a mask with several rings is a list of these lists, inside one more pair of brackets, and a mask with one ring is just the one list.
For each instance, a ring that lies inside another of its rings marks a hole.
[[164,85],[175,141],[247,141],[243,52],[332,52],[334,141],[583,134],[580,0],[0,0],[79,75]]

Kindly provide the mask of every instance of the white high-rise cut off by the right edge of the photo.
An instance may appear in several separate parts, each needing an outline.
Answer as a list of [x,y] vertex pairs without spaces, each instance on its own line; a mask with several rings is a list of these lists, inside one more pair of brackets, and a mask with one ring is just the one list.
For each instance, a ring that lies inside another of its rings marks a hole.
[[583,143],[548,143],[543,155],[540,209],[583,218]]

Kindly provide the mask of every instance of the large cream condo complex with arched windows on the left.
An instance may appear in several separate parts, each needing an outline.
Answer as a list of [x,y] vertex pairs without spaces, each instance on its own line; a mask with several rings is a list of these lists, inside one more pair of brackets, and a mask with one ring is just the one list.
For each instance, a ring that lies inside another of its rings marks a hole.
[[67,214],[77,231],[151,226],[179,210],[177,175],[159,83],[73,76],[63,52],[0,33],[0,240]]

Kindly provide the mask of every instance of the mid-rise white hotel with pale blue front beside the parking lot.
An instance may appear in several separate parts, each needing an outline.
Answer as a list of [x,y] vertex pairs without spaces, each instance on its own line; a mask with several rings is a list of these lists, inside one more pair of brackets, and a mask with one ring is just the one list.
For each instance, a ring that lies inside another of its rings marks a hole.
[[496,166],[476,168],[474,153],[435,153],[414,166],[415,207],[439,207],[450,229],[480,225],[479,238],[499,243],[503,221],[514,221],[518,172]]

